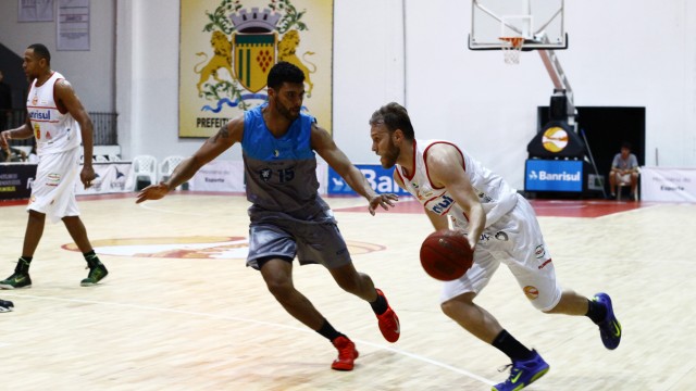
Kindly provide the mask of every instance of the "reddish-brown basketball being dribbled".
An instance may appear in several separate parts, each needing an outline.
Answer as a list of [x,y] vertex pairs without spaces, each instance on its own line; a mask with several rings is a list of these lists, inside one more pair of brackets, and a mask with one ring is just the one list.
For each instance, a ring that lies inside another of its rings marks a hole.
[[461,231],[437,230],[421,244],[421,265],[425,273],[440,281],[455,280],[473,264],[473,251]]

